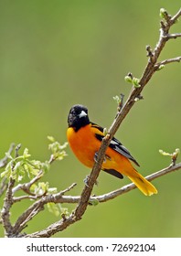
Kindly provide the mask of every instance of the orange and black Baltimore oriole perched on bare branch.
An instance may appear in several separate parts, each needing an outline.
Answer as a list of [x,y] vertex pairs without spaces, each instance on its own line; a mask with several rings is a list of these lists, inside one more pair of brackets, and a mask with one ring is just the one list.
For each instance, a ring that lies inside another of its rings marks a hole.
[[[92,168],[104,137],[103,128],[90,122],[88,109],[82,105],[72,106],[68,124],[67,136],[73,153],[83,165]],[[156,188],[134,169],[130,160],[139,166],[129,151],[113,137],[101,169],[118,178],[128,176],[145,196],[156,194]]]

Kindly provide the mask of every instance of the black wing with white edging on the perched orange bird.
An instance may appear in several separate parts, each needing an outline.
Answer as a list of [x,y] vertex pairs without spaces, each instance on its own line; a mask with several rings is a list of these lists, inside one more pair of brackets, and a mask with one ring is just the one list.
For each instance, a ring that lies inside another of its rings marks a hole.
[[[97,124],[95,124],[95,123],[92,123],[92,126],[95,127],[95,128],[97,128],[97,129],[99,129],[99,130],[101,131],[101,133],[103,133],[103,128],[101,128],[99,125],[97,125]],[[96,138],[97,138],[99,141],[102,141],[102,139],[103,139],[103,137],[104,137],[103,135],[101,135],[101,134],[99,134],[99,133],[96,133],[95,136],[96,136]],[[115,150],[116,152],[118,152],[119,154],[121,154],[121,155],[127,157],[128,159],[132,160],[135,165],[140,166],[140,165],[138,164],[138,162],[137,162],[137,161],[133,158],[133,156],[130,154],[130,152],[127,150],[127,148],[125,148],[125,146],[123,146],[123,145],[121,144],[121,142],[118,141],[116,138],[114,138],[114,137],[112,138],[112,141],[111,141],[111,143],[110,143],[109,146],[110,146],[113,150]]]

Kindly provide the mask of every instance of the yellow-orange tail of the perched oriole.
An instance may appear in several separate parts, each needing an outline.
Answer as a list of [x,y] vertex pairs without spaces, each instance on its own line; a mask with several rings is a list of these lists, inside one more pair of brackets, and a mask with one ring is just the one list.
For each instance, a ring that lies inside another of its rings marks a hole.
[[135,169],[133,169],[132,174],[128,176],[136,187],[138,187],[145,196],[152,196],[157,194],[157,190],[144,176],[140,175]]

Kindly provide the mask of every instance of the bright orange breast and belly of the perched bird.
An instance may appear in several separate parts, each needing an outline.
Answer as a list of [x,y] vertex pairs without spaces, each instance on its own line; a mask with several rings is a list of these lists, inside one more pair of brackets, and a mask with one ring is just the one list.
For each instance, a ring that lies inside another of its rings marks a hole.
[[[100,131],[98,129],[94,131],[94,129],[91,124],[88,124],[80,128],[78,132],[75,132],[71,127],[67,131],[69,145],[73,153],[83,165],[90,168],[94,165],[95,153],[99,151],[101,146],[101,142],[94,135],[95,132],[99,133]],[[105,157],[102,168],[114,169],[125,175],[128,175],[129,171],[133,169],[131,162],[112,148],[108,147],[106,155],[108,157]]]

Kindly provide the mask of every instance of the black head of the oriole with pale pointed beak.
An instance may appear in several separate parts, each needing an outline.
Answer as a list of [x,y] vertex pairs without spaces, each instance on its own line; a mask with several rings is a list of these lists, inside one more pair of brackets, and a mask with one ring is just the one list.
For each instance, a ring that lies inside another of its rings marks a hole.
[[68,116],[69,127],[77,132],[81,127],[90,123],[88,109],[83,105],[74,105],[71,107]]

